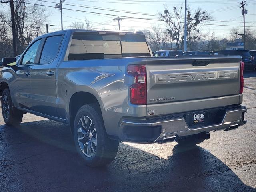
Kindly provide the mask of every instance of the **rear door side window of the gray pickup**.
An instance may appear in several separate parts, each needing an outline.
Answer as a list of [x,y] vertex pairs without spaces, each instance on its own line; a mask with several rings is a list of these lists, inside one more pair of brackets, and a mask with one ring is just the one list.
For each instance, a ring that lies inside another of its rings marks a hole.
[[61,44],[62,36],[52,36],[46,39],[40,58],[40,64],[52,62],[57,54]]

